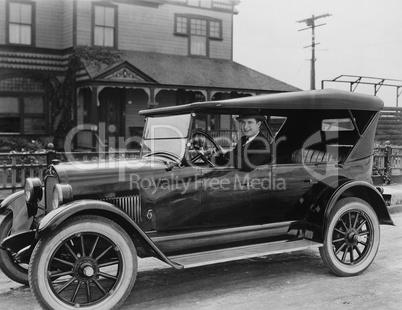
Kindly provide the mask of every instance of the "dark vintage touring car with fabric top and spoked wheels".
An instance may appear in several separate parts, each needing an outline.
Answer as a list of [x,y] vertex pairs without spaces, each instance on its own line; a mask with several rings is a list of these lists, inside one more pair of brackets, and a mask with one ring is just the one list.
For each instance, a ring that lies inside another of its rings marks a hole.
[[[119,307],[137,257],[182,269],[318,248],[334,274],[358,275],[393,225],[371,181],[382,107],[317,90],[141,111],[139,158],[55,162],[2,202],[0,267],[50,309]],[[244,171],[223,159],[249,111],[270,161]]]

